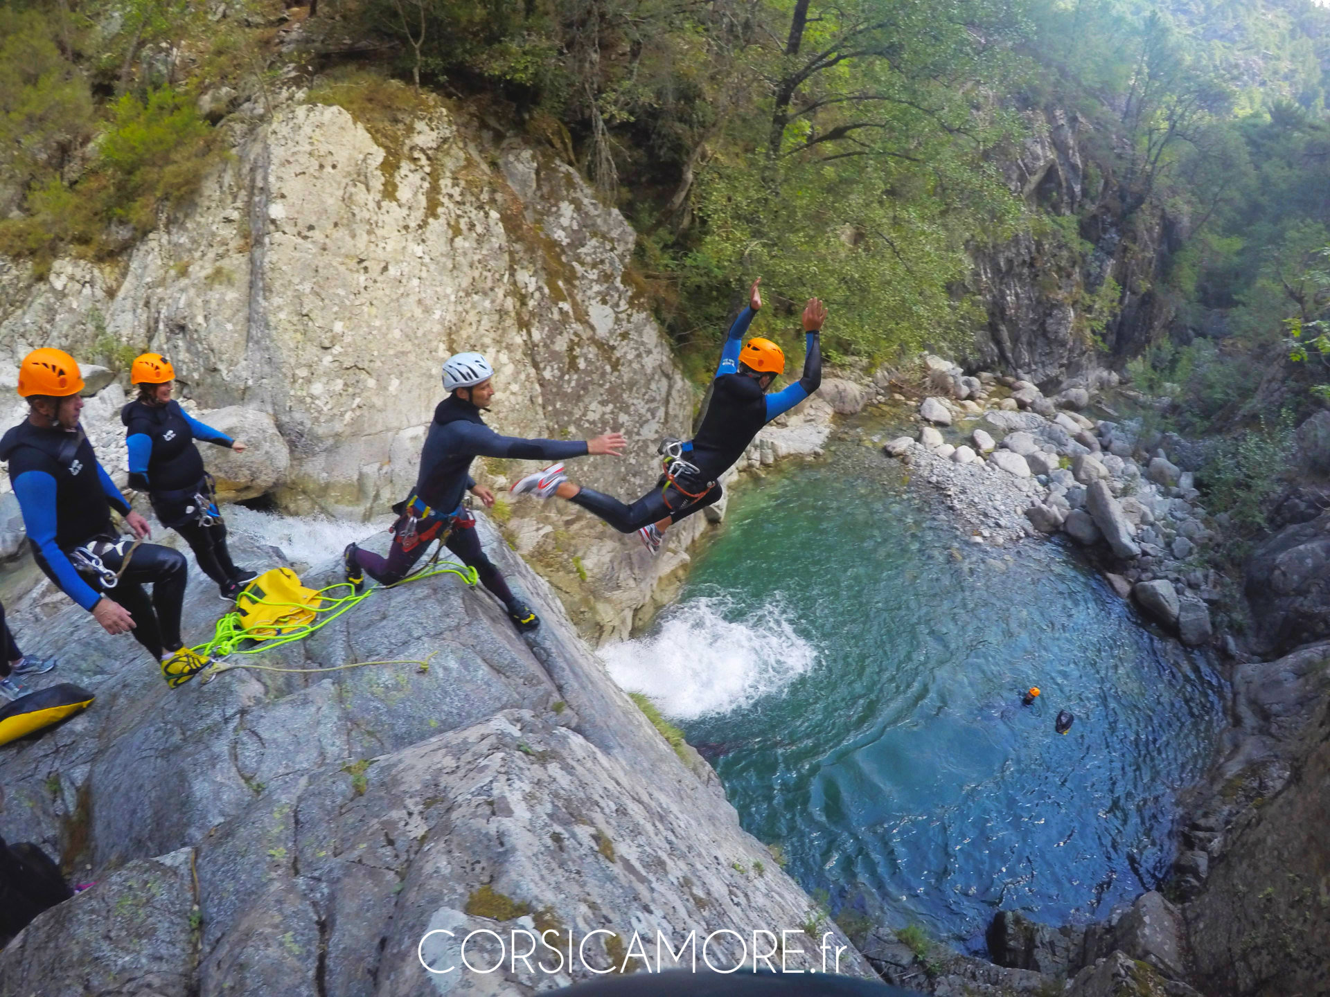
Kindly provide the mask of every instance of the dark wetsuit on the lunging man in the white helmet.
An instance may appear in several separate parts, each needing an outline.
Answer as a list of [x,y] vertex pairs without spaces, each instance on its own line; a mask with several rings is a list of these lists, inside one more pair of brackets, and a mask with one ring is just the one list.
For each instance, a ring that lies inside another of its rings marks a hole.
[[[400,506],[394,526],[392,549],[387,558],[356,549],[356,564],[376,582],[392,585],[406,577],[440,530],[451,528],[447,548],[471,565],[481,584],[512,610],[517,600],[493,562],[485,557],[473,529],[476,521],[462,506],[467,489],[475,485],[471,461],[476,457],[516,457],[519,460],[567,460],[587,455],[583,440],[524,440],[500,436],[480,417],[480,409],[455,393],[434,409],[434,421],[420,452],[420,473],[411,496]],[[407,532],[408,525],[414,532]]]

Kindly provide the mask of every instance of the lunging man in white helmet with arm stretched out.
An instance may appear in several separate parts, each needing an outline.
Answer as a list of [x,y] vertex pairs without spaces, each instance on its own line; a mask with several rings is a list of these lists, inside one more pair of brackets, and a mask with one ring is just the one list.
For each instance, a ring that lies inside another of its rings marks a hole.
[[500,436],[480,417],[495,395],[492,378],[493,368],[480,354],[455,354],[443,362],[443,388],[450,393],[434,409],[415,489],[406,501],[392,506],[399,514],[392,525],[392,548],[384,558],[348,544],[343,552],[346,580],[359,588],[368,573],[380,585],[392,585],[404,578],[435,537],[444,533],[447,548],[476,569],[481,584],[508,608],[517,629],[532,630],[540,619],[512,594],[503,574],[485,557],[476,537],[476,520],[462,505],[468,491],[487,509],[495,504],[493,492],[471,477],[471,461],[475,457],[568,460],[588,453],[617,457],[624,452],[625,440],[621,433],[601,433],[592,440]]

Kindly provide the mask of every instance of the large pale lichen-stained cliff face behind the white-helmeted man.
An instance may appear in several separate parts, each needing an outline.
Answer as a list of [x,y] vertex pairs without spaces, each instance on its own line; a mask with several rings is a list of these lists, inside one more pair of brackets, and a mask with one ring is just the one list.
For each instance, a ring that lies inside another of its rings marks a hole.
[[[360,517],[414,484],[439,362],[480,350],[496,368],[495,428],[620,429],[625,459],[576,472],[636,497],[657,473],[656,443],[686,433],[696,399],[625,278],[632,229],[551,149],[427,108],[360,122],[290,94],[271,120],[231,116],[230,161],[120,265],[60,261],[33,284],[0,261],[0,372],[12,383],[36,346],[80,359],[108,344],[158,350],[203,407],[273,416],[290,445],[285,508]],[[110,464],[114,436],[97,440]],[[529,469],[477,468],[493,484]],[[701,528],[652,561],[585,514],[504,512],[597,637],[626,635]]]

